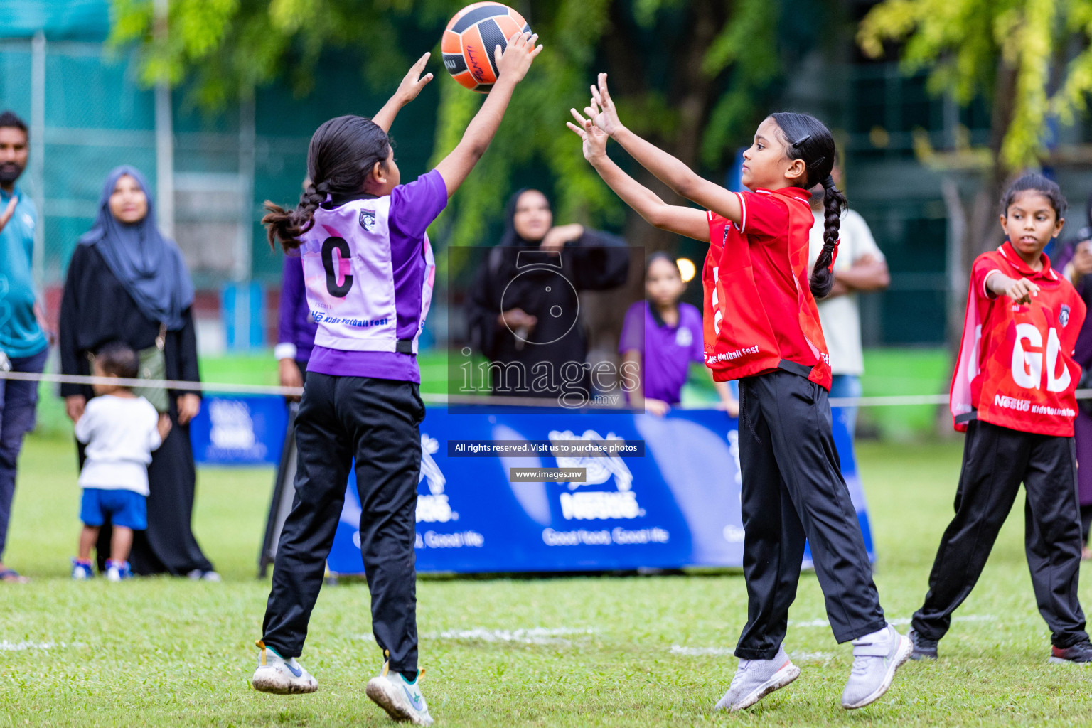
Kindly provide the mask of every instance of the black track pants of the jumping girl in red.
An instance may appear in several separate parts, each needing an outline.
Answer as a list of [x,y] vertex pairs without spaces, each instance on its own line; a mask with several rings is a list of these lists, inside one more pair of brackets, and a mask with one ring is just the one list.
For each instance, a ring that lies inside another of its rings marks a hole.
[[847,642],[883,629],[857,512],[834,450],[827,390],[779,369],[739,380],[739,401],[748,604],[736,656],[776,654],[805,540],[834,637]]

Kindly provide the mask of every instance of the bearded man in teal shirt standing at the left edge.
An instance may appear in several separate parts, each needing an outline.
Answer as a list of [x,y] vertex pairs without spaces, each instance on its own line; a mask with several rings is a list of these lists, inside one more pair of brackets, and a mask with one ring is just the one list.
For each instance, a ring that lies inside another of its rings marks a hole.
[[[29,152],[26,124],[0,114],[0,369],[40,373],[49,343],[38,323],[32,275],[38,214],[15,180]],[[23,435],[34,429],[37,382],[0,380],[0,582],[26,580],[3,564],[8,522],[15,493],[15,466]]]

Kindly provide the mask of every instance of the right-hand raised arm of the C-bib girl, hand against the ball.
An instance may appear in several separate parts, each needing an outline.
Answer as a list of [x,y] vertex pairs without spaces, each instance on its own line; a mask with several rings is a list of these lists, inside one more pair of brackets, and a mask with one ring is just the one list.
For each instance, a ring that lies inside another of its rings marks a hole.
[[523,80],[535,56],[542,52],[542,46],[535,47],[537,39],[537,35],[518,33],[508,39],[508,49],[503,53],[500,52],[500,46],[494,51],[499,72],[497,83],[489,89],[485,104],[471,119],[462,140],[451,154],[436,165],[436,170],[440,172],[443,183],[448,187],[449,199],[489,147],[489,142],[500,127],[500,120],[505,118],[505,110],[512,99],[515,84]]

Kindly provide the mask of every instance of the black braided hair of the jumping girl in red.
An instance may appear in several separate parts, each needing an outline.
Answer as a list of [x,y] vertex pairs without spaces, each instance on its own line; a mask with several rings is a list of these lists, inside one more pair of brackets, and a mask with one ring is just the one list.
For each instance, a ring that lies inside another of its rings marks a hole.
[[842,226],[842,213],[848,207],[845,195],[830,176],[834,169],[834,136],[809,114],[779,111],[772,117],[781,128],[788,158],[804,160],[804,177],[799,179],[798,187],[806,190],[816,184],[823,187],[822,252],[811,271],[810,288],[812,296],[824,298],[834,286],[834,274],[830,267],[834,260],[834,246],[838,244],[838,231]]

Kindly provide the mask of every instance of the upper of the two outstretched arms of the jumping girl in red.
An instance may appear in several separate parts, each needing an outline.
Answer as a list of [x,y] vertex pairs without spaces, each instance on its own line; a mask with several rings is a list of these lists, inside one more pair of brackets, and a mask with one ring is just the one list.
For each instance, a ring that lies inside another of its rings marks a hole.
[[740,223],[743,208],[739,206],[739,198],[733,192],[696,174],[681,160],[622,126],[607,89],[606,73],[600,74],[598,86],[592,86],[592,100],[584,114],[676,194],[720,213],[737,225]]

